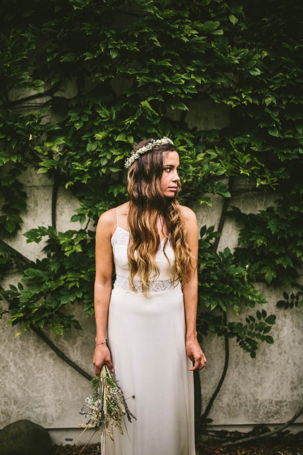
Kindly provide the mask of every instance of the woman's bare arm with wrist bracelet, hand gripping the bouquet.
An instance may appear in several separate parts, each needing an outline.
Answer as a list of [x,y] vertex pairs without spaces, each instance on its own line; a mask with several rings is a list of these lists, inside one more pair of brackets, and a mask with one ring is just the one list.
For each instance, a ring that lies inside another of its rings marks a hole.
[[[96,321],[96,343],[106,340],[109,305],[112,292],[113,249],[111,233],[113,218],[111,211],[103,213],[96,229],[96,277],[94,284],[94,312]],[[109,348],[106,343],[97,344],[93,354],[95,374],[98,375],[104,363],[114,372]]]

